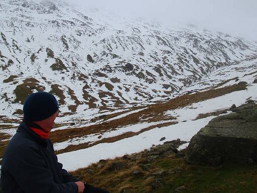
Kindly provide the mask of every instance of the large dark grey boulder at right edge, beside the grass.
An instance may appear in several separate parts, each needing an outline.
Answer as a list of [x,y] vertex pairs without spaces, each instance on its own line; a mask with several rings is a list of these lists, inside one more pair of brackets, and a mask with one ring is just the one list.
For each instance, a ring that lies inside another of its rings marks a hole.
[[214,118],[190,141],[186,160],[220,165],[257,161],[257,105],[251,102],[235,113]]

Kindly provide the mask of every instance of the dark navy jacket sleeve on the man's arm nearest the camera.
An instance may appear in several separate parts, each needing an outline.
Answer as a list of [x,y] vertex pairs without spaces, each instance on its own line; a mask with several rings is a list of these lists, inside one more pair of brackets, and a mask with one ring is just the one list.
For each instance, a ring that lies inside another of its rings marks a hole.
[[42,155],[32,145],[16,148],[9,157],[7,169],[26,193],[77,193],[74,182],[56,184]]

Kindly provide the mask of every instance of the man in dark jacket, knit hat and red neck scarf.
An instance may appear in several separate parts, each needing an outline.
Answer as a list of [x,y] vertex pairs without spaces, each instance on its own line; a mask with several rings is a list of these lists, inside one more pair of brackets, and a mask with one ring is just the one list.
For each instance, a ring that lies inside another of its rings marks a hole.
[[58,116],[55,96],[36,92],[23,106],[24,120],[9,142],[2,161],[2,193],[104,193],[74,178],[58,162],[48,139]]

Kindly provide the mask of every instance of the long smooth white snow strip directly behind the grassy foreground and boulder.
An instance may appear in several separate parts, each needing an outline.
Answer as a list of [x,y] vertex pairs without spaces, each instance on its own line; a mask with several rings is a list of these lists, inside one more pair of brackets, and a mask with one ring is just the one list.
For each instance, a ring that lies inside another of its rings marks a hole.
[[[168,127],[155,128],[137,136],[122,139],[114,143],[101,143],[87,149],[80,149],[57,155],[58,161],[63,164],[63,168],[73,171],[86,167],[100,159],[109,159],[124,154],[140,152],[152,147],[152,145],[163,144],[165,141],[180,138],[189,141],[202,127],[204,127],[213,117],[200,119],[197,121],[181,122]],[[166,139],[160,142],[162,137]]]

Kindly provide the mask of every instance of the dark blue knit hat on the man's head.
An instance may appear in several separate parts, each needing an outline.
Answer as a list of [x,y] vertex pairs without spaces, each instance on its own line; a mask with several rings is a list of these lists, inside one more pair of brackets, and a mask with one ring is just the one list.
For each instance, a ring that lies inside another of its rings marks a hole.
[[59,109],[58,102],[53,94],[36,92],[28,96],[23,106],[24,120],[42,121]]

